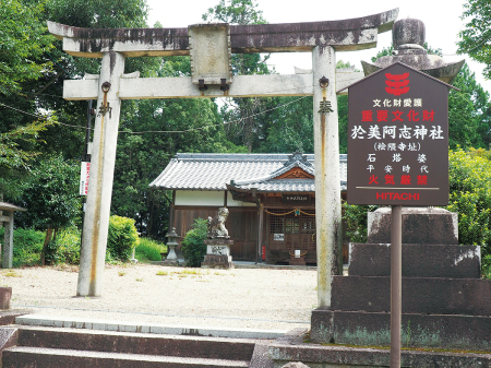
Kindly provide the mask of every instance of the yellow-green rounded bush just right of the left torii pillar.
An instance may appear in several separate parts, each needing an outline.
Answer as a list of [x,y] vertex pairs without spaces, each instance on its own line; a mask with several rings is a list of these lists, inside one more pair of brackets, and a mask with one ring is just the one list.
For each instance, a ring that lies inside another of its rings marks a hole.
[[128,261],[133,248],[139,245],[139,233],[134,227],[134,219],[121,216],[110,216],[107,235],[106,259]]

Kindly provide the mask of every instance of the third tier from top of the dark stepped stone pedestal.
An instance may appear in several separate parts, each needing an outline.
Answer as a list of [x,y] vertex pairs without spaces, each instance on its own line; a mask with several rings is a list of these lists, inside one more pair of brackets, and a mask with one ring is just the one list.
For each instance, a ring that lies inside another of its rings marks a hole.
[[[390,312],[391,277],[334,276],[331,310]],[[491,316],[491,280],[403,277],[403,313]]]

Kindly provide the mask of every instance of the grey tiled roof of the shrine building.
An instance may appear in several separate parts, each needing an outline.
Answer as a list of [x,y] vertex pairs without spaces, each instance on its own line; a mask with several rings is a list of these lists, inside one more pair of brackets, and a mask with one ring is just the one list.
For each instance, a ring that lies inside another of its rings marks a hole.
[[[314,174],[313,154],[303,155],[307,162],[291,161],[294,156],[295,154],[178,153],[149,186],[168,190],[227,190],[226,185],[233,180],[237,187],[243,189],[253,187],[259,191],[313,192],[313,179],[272,180],[292,165]],[[346,190],[346,155],[339,155],[343,190]]]

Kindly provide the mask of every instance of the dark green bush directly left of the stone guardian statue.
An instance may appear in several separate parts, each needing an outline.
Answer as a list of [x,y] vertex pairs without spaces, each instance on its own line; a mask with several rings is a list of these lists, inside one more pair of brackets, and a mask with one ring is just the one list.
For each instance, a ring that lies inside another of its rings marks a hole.
[[204,218],[194,218],[193,228],[189,230],[182,240],[182,253],[187,265],[190,268],[201,266],[206,254],[204,240],[208,234],[208,222]]

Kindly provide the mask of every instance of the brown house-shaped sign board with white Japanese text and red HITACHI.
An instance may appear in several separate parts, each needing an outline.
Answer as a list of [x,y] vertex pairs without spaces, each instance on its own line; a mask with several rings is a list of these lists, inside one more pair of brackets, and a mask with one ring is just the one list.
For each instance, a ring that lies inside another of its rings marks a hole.
[[348,203],[448,204],[448,87],[402,63],[349,87]]

